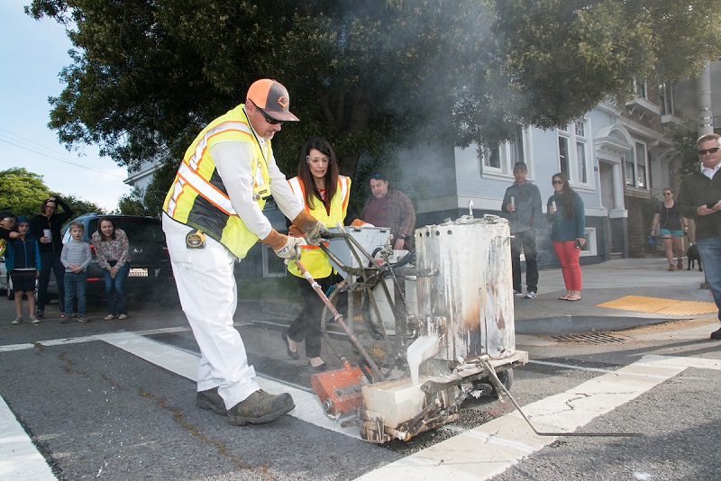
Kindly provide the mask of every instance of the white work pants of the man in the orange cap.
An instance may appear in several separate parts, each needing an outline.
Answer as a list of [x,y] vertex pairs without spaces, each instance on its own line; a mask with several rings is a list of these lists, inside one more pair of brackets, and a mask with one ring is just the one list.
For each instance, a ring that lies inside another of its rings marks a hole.
[[205,249],[187,249],[193,228],[163,214],[163,231],[178,286],[180,304],[200,347],[197,390],[218,387],[225,407],[232,408],[260,389],[253,380],[241,335],[233,327],[238,292],[233,277],[235,257],[205,237]]

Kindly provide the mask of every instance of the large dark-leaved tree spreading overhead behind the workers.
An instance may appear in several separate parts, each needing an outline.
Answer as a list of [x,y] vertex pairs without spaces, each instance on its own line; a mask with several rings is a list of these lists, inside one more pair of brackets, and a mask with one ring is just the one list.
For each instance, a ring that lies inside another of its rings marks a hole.
[[[650,74],[675,81],[721,54],[721,0],[33,0],[76,47],[51,99],[61,141],[119,165],[176,164],[259,77],[302,122],[274,141],[291,173],[312,135],[342,172],[423,141],[494,145],[551,128]],[[165,186],[172,177],[162,179]]]

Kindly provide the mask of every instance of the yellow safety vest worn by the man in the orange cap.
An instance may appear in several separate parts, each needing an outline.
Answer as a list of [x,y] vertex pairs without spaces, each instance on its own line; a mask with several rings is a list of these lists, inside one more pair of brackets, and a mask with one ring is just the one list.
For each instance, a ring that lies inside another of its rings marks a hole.
[[178,222],[204,231],[222,243],[239,259],[258,241],[233,209],[223,179],[210,150],[223,141],[240,141],[251,145],[253,198],[262,210],[270,195],[268,161],[272,155],[270,141],[266,152],[252,131],[243,104],[209,123],[186,150],[178,174],[163,203],[163,211]]

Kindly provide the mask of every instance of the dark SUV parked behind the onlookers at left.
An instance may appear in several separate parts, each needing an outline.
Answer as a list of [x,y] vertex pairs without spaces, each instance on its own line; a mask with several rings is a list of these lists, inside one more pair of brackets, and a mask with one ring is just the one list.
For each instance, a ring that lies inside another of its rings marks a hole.
[[[130,244],[130,273],[125,283],[128,295],[157,295],[161,303],[177,299],[177,290],[173,271],[170,267],[170,257],[166,247],[165,234],[162,224],[152,217],[139,217],[134,215],[99,215],[87,213],[71,222],[80,222],[85,227],[83,241],[90,244],[93,260],[87,266],[87,300],[99,300],[105,292],[105,277],[97,263],[96,252],[93,247],[93,232],[97,231],[97,223],[101,217],[113,219],[115,227],[123,229],[128,236]],[[62,228],[63,244],[70,241],[68,222]],[[55,278],[51,277],[48,291],[58,294]]]

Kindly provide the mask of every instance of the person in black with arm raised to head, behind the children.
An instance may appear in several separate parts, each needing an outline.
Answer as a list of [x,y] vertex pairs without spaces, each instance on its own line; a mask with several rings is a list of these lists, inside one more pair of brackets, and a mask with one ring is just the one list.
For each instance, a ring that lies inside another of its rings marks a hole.
[[[63,212],[58,213],[58,206]],[[38,280],[38,312],[35,317],[45,317],[45,304],[48,304],[48,283],[50,272],[55,273],[58,282],[58,302],[60,304],[60,318],[65,319],[65,268],[60,262],[62,253],[62,236],[60,228],[73,215],[73,210],[57,195],[51,195],[42,202],[40,212],[30,221],[30,233],[38,240],[40,250],[41,271]],[[50,234],[50,235],[48,235]]]

